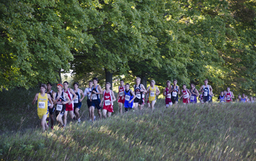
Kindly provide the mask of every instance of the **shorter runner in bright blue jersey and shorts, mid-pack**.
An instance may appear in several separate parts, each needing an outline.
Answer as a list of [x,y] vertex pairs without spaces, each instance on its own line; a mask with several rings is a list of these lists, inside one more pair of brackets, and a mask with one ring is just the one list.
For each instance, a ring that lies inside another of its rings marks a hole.
[[125,112],[131,111],[131,109],[133,108],[133,101],[136,98],[134,92],[132,92],[132,90],[130,89],[130,84],[126,83],[125,84],[125,91],[124,91],[124,95],[123,95],[123,99],[125,99],[124,101],[124,109]]

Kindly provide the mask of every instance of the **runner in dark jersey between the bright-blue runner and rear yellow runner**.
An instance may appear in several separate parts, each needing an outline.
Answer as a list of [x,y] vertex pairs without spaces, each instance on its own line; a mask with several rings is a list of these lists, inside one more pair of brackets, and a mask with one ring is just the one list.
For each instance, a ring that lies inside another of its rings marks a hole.
[[146,92],[146,89],[143,84],[140,83],[141,79],[139,77],[136,78],[136,85],[133,86],[134,92],[136,94],[136,98],[134,99],[134,109],[138,109],[138,105],[140,104],[140,109],[143,108],[143,100],[142,94]]

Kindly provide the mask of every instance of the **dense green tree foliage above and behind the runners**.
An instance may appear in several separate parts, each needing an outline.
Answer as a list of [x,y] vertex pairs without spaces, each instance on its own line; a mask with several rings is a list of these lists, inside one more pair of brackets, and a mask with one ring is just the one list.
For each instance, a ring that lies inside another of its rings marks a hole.
[[255,95],[256,2],[1,1],[1,88],[140,76]]

